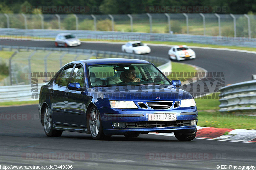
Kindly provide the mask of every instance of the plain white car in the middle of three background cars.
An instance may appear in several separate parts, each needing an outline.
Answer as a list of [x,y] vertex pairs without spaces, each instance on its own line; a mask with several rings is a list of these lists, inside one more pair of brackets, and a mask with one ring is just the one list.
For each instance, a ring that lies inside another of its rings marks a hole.
[[122,51],[125,53],[145,54],[150,53],[151,49],[141,41],[129,41],[122,45]]

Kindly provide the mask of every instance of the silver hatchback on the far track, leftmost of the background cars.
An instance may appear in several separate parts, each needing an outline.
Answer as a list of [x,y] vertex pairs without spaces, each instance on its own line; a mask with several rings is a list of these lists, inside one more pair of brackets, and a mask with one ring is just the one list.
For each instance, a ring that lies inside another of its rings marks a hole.
[[60,33],[56,36],[55,38],[55,46],[64,46],[64,47],[68,47],[68,46],[78,46],[80,45],[81,42],[80,40],[70,34],[70,33]]

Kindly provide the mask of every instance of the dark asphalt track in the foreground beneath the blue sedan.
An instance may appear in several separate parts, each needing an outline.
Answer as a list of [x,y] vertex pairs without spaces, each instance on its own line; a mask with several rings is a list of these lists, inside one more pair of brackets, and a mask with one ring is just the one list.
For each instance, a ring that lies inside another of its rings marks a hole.
[[[5,118],[1,117],[1,165],[73,165],[73,169],[92,170],[216,170],[217,165],[256,166],[255,143],[204,139],[180,142],[175,137],[153,134],[140,134],[136,138],[119,135],[111,137],[108,141],[95,141],[90,134],[72,132],[63,132],[61,137],[47,137],[38,120],[37,107],[29,105],[0,108],[1,115],[18,113],[24,117],[23,120],[14,120],[14,115],[12,120],[7,120],[7,115]],[[42,153],[58,154],[58,159],[41,159]],[[61,159],[61,155],[67,153],[68,159]],[[85,157],[72,157],[72,153]]]

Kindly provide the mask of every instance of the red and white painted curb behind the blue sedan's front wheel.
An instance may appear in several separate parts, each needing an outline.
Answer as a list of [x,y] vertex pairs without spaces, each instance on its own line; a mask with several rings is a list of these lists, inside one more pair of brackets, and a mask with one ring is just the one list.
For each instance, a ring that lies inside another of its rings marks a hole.
[[[224,135],[224,133],[226,133],[226,135]],[[173,133],[150,133],[150,134],[174,136]],[[256,130],[211,128],[211,127],[197,126],[196,138],[256,143]]]

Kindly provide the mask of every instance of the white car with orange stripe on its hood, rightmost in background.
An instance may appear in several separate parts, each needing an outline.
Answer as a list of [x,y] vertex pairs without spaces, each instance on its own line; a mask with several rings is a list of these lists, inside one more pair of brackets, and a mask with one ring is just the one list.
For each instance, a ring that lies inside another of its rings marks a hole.
[[196,54],[195,51],[190,49],[188,46],[173,46],[169,51],[168,55],[171,60],[186,60],[186,59],[195,59]]

